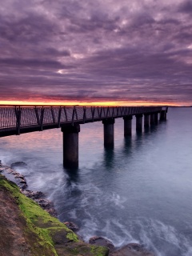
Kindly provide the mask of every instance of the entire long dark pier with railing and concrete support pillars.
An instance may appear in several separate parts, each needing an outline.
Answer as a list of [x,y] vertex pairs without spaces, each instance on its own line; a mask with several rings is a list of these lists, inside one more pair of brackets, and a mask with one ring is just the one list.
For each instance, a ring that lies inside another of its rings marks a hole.
[[104,146],[114,146],[115,118],[123,118],[124,135],[154,126],[166,120],[168,108],[162,106],[0,106],[0,137],[33,131],[60,128],[63,134],[63,166],[78,168],[78,134],[80,125],[87,122],[103,124]]

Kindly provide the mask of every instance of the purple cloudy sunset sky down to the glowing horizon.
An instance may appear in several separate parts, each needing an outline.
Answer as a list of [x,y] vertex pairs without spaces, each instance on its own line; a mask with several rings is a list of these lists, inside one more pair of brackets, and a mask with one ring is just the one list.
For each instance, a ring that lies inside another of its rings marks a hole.
[[192,105],[192,1],[6,0],[0,103]]

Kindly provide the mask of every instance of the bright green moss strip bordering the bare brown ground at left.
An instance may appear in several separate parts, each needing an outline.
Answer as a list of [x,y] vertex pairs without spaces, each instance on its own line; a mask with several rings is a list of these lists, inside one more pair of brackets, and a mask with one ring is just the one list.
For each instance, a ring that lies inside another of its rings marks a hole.
[[2,175],[0,176],[0,186],[4,187],[10,196],[15,199],[20,208],[20,218],[25,220],[24,233],[27,241],[31,241],[30,250],[34,256],[39,255],[57,255],[54,249],[54,242],[52,241],[49,231],[42,229],[39,226],[35,226],[35,219],[41,214],[45,222],[50,220],[50,214],[42,210],[36,202],[30,198],[26,198],[25,195],[21,194],[18,186],[14,182],[8,182]]

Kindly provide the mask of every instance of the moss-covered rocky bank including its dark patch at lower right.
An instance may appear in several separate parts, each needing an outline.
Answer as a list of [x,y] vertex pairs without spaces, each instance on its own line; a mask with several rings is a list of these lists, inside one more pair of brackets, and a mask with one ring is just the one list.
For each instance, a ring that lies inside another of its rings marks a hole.
[[30,244],[33,256],[84,255],[106,256],[108,249],[101,246],[90,246],[78,240],[78,236],[53,218],[30,198],[21,194],[14,182],[0,175],[0,187],[7,190],[20,209],[20,215],[25,219],[26,240]]

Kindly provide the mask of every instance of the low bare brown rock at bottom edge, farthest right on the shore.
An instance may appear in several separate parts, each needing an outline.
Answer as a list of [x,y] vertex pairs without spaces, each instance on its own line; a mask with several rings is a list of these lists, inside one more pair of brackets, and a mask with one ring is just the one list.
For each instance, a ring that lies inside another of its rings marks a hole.
[[138,243],[130,243],[121,249],[112,252],[109,256],[155,256]]

